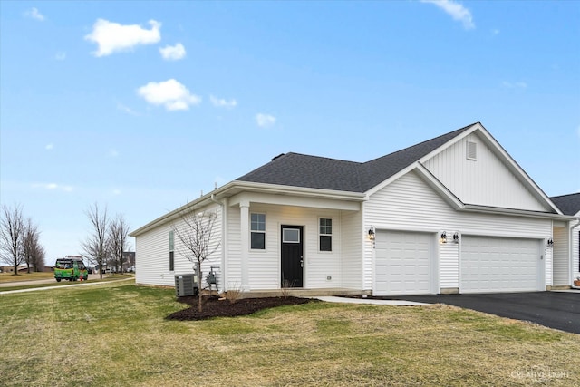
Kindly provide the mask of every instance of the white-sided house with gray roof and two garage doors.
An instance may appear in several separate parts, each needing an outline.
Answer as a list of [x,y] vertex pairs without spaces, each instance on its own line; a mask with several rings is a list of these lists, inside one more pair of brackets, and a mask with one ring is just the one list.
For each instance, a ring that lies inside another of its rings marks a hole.
[[367,162],[279,155],[133,231],[138,284],[193,271],[172,231],[187,211],[217,217],[202,271],[221,291],[254,294],[569,286],[569,259],[554,252],[577,221],[479,122]]

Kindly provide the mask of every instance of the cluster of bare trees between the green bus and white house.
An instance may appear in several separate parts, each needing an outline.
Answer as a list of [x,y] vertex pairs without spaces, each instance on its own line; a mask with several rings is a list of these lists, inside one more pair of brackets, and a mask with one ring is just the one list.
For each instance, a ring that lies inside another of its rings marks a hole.
[[82,242],[82,256],[93,265],[99,266],[102,277],[104,266],[114,267],[117,273],[123,271],[125,255],[129,248],[129,224],[125,218],[117,214],[109,218],[107,208],[92,205],[85,212],[91,223],[91,233]]

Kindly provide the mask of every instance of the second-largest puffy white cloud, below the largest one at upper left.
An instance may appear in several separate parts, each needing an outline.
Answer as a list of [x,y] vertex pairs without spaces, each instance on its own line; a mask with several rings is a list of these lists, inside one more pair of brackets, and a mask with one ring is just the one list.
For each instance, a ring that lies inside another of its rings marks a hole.
[[165,82],[149,82],[141,86],[137,93],[153,105],[163,105],[168,111],[189,110],[189,106],[198,105],[201,97],[189,92],[174,79]]

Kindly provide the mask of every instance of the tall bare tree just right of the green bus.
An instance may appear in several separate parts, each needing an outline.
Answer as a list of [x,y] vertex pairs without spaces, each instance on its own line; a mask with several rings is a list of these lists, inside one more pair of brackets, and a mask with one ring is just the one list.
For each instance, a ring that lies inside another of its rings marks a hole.
[[102,266],[107,257],[107,227],[109,227],[109,218],[107,218],[107,208],[99,210],[99,205],[95,203],[85,212],[91,222],[92,233],[82,242],[82,255],[89,261],[99,266],[99,272],[102,278]]

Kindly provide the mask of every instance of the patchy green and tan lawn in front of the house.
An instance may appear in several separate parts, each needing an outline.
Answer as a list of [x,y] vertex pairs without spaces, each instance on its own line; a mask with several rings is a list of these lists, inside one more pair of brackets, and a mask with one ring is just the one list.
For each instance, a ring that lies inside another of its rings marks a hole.
[[[225,301],[227,302],[227,301]],[[0,385],[574,385],[580,335],[452,306],[310,303],[166,321],[171,289],[0,294]]]

